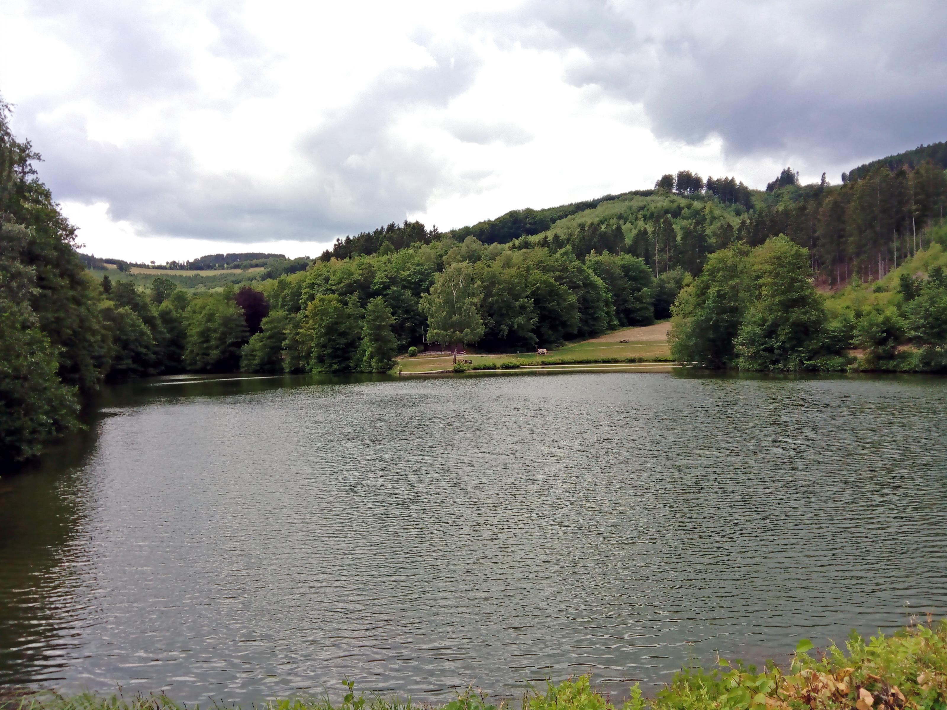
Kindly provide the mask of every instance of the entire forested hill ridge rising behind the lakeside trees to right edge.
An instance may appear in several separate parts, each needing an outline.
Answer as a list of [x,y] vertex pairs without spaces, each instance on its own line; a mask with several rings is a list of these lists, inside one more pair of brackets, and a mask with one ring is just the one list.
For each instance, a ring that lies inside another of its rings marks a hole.
[[801,185],[783,169],[765,190],[733,177],[689,170],[662,176],[654,189],[606,195],[548,209],[513,210],[451,232],[420,222],[392,222],[337,240],[320,257],[388,254],[415,244],[474,239],[512,249],[568,247],[579,258],[593,252],[631,254],[660,275],[676,267],[697,274],[707,255],[736,241],[757,246],[785,234],[805,248],[818,280],[837,287],[851,278],[878,279],[924,244],[923,230],[943,219],[947,179],[938,143],[853,170],[842,185]]

